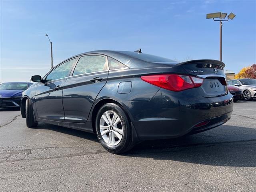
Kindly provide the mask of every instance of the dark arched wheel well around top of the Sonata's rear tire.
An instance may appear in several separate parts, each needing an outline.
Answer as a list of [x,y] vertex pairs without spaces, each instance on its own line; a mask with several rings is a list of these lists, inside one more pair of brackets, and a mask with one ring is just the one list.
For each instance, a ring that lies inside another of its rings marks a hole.
[[[97,116],[97,113],[99,111],[99,109],[106,103],[114,103],[114,104],[117,104],[118,106],[120,106],[123,110],[124,108],[122,107],[122,105],[120,103],[118,103],[117,101],[113,100],[113,99],[103,99],[101,101],[99,101],[93,108],[92,110],[92,129],[93,129],[93,132],[96,134],[96,126],[95,126],[95,123],[96,123],[96,116]],[[126,111],[124,110],[124,112],[126,113]],[[130,117],[128,116],[128,114],[126,113],[129,121],[130,121]]]

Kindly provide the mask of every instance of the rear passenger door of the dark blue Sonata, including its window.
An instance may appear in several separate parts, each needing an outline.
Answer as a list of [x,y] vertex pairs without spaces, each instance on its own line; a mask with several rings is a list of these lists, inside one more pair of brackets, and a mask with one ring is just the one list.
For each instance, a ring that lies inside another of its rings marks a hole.
[[106,84],[108,65],[106,56],[81,56],[63,87],[63,108],[66,122],[86,122],[92,104]]

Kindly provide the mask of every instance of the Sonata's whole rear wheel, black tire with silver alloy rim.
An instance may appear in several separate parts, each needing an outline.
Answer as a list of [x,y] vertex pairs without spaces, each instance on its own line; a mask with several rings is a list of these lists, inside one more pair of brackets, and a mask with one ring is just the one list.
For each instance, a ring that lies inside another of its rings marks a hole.
[[100,144],[110,153],[130,150],[132,128],[124,110],[114,103],[104,104],[96,116],[96,134]]

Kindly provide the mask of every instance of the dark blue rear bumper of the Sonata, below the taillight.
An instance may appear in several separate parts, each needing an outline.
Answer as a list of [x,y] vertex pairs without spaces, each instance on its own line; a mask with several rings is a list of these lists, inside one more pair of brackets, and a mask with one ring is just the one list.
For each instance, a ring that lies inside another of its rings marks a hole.
[[[149,101],[122,102],[141,140],[176,138],[224,124],[233,110],[233,96],[198,96],[195,89],[170,92],[160,89]],[[207,124],[196,127],[200,122]]]

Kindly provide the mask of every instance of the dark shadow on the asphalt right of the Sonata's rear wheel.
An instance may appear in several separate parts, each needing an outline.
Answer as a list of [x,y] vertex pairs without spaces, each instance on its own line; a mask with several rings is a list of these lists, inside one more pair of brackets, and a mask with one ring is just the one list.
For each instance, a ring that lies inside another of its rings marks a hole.
[[177,139],[144,141],[125,156],[212,166],[256,167],[256,129],[226,125]]

